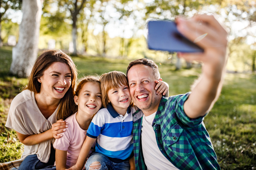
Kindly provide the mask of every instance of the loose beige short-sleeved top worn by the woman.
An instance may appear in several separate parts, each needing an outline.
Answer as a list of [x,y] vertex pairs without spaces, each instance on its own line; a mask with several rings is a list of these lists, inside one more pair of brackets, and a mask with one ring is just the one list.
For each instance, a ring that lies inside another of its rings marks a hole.
[[[45,119],[36,105],[34,92],[23,90],[12,100],[5,126],[25,135],[42,133],[51,129],[52,124],[57,121],[58,107],[48,119]],[[21,159],[36,154],[41,162],[47,163],[52,143],[54,139],[32,146],[25,145]]]

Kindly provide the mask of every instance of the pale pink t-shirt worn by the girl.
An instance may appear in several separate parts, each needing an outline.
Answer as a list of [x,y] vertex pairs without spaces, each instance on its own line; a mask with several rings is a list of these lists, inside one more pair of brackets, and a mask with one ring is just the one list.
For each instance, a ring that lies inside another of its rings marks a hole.
[[[56,139],[53,147],[58,150],[67,151],[66,167],[70,168],[76,164],[81,147],[86,138],[86,131],[80,128],[76,120],[76,113],[68,117],[65,121],[68,123],[69,127],[66,128],[66,132],[60,133],[63,134],[63,137]],[[91,152],[92,151],[90,151],[90,153]],[[85,170],[85,166],[83,166],[83,170]]]

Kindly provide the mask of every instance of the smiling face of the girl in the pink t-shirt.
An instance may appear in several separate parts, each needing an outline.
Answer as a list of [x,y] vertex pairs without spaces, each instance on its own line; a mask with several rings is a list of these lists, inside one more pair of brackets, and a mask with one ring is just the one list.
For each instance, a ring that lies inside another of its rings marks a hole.
[[100,84],[97,82],[86,82],[83,84],[78,96],[74,97],[78,104],[78,113],[88,114],[89,116],[97,113],[101,107]]

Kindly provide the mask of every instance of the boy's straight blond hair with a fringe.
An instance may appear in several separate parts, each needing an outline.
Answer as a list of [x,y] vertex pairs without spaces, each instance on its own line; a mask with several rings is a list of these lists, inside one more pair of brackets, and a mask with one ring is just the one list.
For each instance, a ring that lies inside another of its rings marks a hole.
[[[127,85],[129,88],[127,77],[121,71],[111,71],[109,73],[104,73],[100,76],[100,90],[103,107],[106,108],[107,104],[109,103],[109,97],[107,96],[107,92],[110,89],[118,88],[120,84]],[[130,102],[130,105],[133,105],[132,100]]]

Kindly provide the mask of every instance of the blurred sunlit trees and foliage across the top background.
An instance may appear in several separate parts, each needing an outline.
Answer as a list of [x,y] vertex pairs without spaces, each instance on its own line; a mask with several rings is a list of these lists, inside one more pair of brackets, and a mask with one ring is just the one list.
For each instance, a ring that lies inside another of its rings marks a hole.
[[[0,42],[8,44],[10,35],[18,40],[22,3],[0,2]],[[255,0],[45,0],[38,46],[72,55],[146,57],[176,64],[176,69],[190,68],[195,63],[179,61],[175,54],[147,50],[146,23],[149,19],[214,13],[229,31],[228,70],[255,71],[255,6]]]

